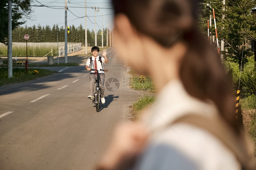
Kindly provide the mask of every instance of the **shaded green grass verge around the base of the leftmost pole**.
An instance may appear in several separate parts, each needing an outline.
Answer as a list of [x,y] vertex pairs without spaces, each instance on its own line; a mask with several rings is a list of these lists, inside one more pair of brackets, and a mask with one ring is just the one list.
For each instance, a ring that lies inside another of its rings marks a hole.
[[38,77],[44,77],[56,73],[55,71],[36,69],[38,74],[34,74],[35,69],[28,69],[26,73],[25,69],[13,68],[13,77],[8,78],[7,68],[0,68],[0,86],[11,83],[24,82],[27,80],[35,80]]

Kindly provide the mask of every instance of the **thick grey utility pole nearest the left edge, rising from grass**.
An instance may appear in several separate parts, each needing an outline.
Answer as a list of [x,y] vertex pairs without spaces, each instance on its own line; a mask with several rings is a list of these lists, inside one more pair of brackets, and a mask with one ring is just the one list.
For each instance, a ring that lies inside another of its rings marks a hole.
[[12,2],[8,1],[8,78],[13,77]]

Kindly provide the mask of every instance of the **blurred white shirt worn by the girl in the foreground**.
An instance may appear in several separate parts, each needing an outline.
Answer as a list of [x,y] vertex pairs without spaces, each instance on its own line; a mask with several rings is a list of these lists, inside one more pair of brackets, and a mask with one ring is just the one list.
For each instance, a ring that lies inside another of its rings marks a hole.
[[153,170],[154,166],[158,170],[188,166],[197,170],[241,169],[235,155],[205,129],[186,123],[172,124],[190,113],[206,117],[218,114],[211,102],[190,96],[179,80],[169,82],[146,113],[144,122],[153,134],[137,169]]

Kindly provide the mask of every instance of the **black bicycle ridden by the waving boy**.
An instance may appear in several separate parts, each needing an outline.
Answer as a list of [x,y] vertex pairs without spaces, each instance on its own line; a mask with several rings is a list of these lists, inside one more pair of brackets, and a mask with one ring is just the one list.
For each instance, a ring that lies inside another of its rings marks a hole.
[[97,71],[98,72],[97,73],[97,80],[95,81],[95,83],[96,83],[95,93],[93,94],[94,98],[90,98],[90,99],[93,99],[93,104],[95,104],[96,112],[99,112],[99,104],[102,103],[101,97],[100,97],[101,94],[102,94],[102,88],[100,86],[100,74],[99,74],[99,71],[107,72],[108,70],[100,69],[98,71],[98,70],[95,70],[95,69],[90,69],[90,71]]

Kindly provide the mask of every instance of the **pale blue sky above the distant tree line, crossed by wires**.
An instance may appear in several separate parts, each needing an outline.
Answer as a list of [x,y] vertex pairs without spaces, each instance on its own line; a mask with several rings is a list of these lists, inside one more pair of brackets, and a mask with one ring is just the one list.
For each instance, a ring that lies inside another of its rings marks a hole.
[[[31,5],[45,5],[49,7],[32,7],[32,16],[30,20],[27,20],[22,27],[32,27],[33,25],[46,26],[49,25],[51,28],[55,24],[59,27],[65,26],[65,0],[37,0],[33,1]],[[96,29],[102,28],[102,14],[103,14],[103,28],[107,27],[108,18],[108,29],[113,28],[113,8],[111,0],[86,0],[87,7],[87,29],[90,31],[95,30],[95,10],[92,7],[99,7],[99,12],[96,12]],[[74,25],[76,28],[82,24],[85,28],[85,0],[67,0],[67,25]],[[57,9],[53,9],[57,8]],[[105,8],[105,9],[102,9]],[[73,14],[72,14],[73,13]],[[76,16],[75,16],[76,15]],[[83,18],[79,18],[83,17]]]

